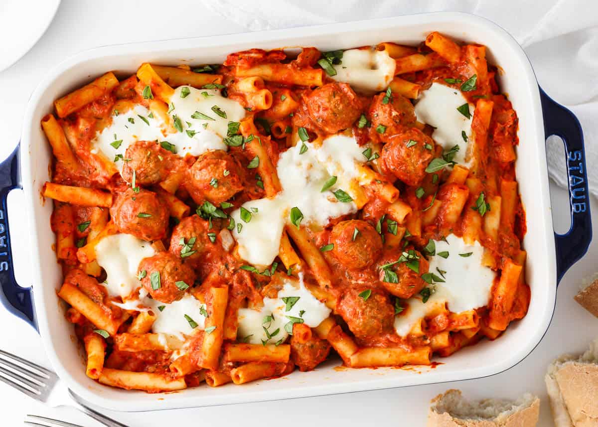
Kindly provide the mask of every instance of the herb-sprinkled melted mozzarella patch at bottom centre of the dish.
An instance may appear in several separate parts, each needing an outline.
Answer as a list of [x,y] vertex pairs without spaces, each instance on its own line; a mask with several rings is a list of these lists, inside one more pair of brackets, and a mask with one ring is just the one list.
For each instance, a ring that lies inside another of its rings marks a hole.
[[[317,327],[328,318],[331,310],[307,290],[303,283],[303,275],[300,275],[300,280],[285,278],[283,283],[276,298],[264,298],[264,306],[260,310],[239,309],[237,337],[240,340],[251,344],[272,344],[279,340],[284,341],[289,336],[285,330],[285,325],[289,323],[288,316],[303,319],[304,324],[310,328]],[[286,297],[298,297],[297,302],[288,311],[287,304],[282,300]],[[264,323],[266,316],[272,316],[272,320]],[[264,328],[270,334],[270,338]]]

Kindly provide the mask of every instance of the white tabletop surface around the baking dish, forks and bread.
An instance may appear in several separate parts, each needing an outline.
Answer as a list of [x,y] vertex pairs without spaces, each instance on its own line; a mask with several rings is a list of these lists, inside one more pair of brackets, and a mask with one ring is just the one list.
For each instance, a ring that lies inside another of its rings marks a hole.
[[[40,0],[42,1],[42,0]],[[159,8],[159,15],[155,14]],[[56,19],[38,44],[19,62],[0,72],[0,158],[5,158],[19,141],[23,111],[29,95],[46,69],[78,51],[106,44],[185,38],[243,31],[222,18],[206,13],[199,2],[144,2],[117,0],[63,0]],[[8,40],[0,41],[3,43]],[[563,160],[564,161],[564,160]],[[553,206],[568,206],[564,190],[552,186]],[[27,266],[28,238],[22,214],[22,194],[13,191],[9,197],[9,218],[16,258],[17,278],[29,284]],[[594,212],[598,203],[592,200]],[[568,221],[568,212],[555,212],[560,230]],[[595,215],[598,218],[598,215]],[[597,227],[594,221],[594,227]],[[566,227],[565,227],[566,229]],[[541,248],[536,248],[541,250]],[[529,250],[529,248],[528,248]],[[428,402],[449,388],[459,388],[471,398],[514,397],[529,391],[542,398],[540,426],[551,426],[552,420],[544,388],[544,373],[551,359],[563,352],[580,352],[598,335],[598,319],[573,301],[582,277],[597,270],[594,261],[598,243],[563,278],[557,295],[556,312],[544,340],[523,362],[505,373],[485,379],[431,386],[417,386],[318,398],[255,404],[206,407],[190,410],[151,413],[109,413],[131,427],[164,427],[193,420],[196,425],[263,425],[280,422],[288,427],[329,425],[403,425],[424,426]],[[39,284],[38,284],[39,285]],[[548,285],[548,284],[547,284]],[[0,307],[0,348],[49,366],[38,335],[29,325],[11,316]],[[483,363],[483,361],[480,361]],[[209,391],[208,391],[209,392]],[[45,408],[25,395],[0,383],[2,426],[19,426],[28,413],[98,426],[83,414],[70,408]]]

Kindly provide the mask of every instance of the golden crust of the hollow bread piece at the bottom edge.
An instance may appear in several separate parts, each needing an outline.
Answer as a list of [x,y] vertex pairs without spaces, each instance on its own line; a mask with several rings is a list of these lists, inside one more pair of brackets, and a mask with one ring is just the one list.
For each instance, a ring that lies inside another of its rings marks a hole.
[[[451,391],[447,393],[449,392]],[[435,411],[435,403],[443,396],[444,394],[441,394],[432,399],[432,407],[428,414],[428,427],[534,427],[538,423],[540,399],[537,397],[531,405],[510,414],[506,419],[496,417],[494,420],[475,420],[460,419],[452,417],[447,412],[438,413]]]

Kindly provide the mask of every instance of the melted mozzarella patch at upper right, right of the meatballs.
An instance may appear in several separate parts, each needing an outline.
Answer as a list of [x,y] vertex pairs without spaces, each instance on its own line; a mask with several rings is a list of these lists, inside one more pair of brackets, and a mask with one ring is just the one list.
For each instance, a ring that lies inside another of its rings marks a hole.
[[[428,90],[422,91],[419,100],[415,105],[417,120],[434,126],[432,139],[443,146],[444,151],[450,150],[455,145],[459,151],[453,160],[456,163],[465,163],[466,154],[471,141],[471,117],[474,114],[474,106],[469,105],[470,118],[465,117],[457,108],[467,103],[460,90],[444,86],[440,83],[432,83]],[[463,140],[463,132],[469,142]]]

